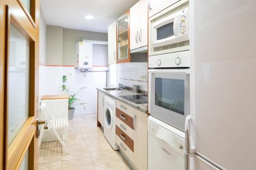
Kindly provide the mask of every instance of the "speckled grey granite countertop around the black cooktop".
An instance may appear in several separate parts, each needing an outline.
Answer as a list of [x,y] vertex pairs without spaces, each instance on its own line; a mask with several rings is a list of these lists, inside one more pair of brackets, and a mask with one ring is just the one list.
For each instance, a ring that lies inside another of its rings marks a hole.
[[131,90],[104,90],[103,88],[96,88],[96,89],[103,92],[104,94],[110,96],[111,98],[114,98],[120,102],[123,102],[126,105],[129,105],[129,106],[147,114],[147,103],[136,104],[136,103],[127,101],[127,100],[119,97],[119,95],[133,95],[133,94],[142,94],[142,93],[134,93]]

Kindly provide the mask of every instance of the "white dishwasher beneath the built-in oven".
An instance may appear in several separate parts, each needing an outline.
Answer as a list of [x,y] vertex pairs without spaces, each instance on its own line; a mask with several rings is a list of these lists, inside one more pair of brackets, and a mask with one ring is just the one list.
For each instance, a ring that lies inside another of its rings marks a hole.
[[148,170],[184,170],[185,133],[148,116]]

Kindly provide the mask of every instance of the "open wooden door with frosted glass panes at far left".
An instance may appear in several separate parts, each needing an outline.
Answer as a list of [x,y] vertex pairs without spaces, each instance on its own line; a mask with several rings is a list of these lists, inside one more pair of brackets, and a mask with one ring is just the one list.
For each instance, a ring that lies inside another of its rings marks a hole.
[[37,169],[39,1],[0,7],[0,169]]

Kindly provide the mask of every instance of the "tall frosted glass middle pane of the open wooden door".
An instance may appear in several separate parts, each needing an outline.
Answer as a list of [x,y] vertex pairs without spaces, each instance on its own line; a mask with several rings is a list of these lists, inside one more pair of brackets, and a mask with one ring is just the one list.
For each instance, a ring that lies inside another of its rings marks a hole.
[[11,25],[7,82],[9,145],[29,117],[29,51],[29,40]]

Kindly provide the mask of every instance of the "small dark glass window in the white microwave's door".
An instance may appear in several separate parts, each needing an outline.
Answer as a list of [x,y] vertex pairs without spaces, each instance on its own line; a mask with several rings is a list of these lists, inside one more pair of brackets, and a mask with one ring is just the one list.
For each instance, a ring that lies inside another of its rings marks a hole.
[[168,38],[174,35],[174,22],[167,23],[166,25],[157,29],[157,40]]

